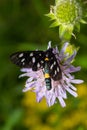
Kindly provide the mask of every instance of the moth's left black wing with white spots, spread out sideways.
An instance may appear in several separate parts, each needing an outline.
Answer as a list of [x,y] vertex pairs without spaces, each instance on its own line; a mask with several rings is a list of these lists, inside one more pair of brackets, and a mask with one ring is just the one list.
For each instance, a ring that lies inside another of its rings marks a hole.
[[21,68],[32,68],[37,71],[44,66],[43,51],[16,52],[10,56],[11,61]]

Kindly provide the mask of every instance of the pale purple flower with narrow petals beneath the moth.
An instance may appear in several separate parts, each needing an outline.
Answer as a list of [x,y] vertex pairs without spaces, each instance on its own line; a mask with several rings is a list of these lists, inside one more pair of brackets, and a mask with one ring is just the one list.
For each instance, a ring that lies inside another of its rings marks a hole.
[[[71,64],[77,52],[74,50],[72,55],[65,53],[67,46],[68,43],[65,43],[60,51],[57,47],[53,48],[53,53],[55,54],[62,71],[62,79],[57,81],[51,79],[52,89],[47,90],[43,69],[33,71],[31,68],[23,68],[21,71],[24,73],[19,77],[28,77],[23,92],[28,90],[35,92],[37,102],[40,102],[42,98],[45,97],[48,106],[52,106],[57,102],[56,99],[58,99],[61,106],[65,107],[66,104],[64,99],[67,99],[66,91],[74,97],[77,97],[77,89],[73,86],[73,84],[83,83],[83,80],[75,79],[75,77],[71,75],[71,73],[79,71],[80,67],[74,67]],[[49,47],[51,47],[50,42],[48,44],[48,48]]]

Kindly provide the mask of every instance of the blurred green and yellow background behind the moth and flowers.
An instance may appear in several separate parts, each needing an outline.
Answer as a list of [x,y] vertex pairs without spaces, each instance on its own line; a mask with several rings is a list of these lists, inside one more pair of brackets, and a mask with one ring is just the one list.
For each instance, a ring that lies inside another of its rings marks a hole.
[[19,50],[46,49],[49,40],[60,47],[58,28],[49,28],[49,12],[54,0],[0,0],[0,130],[87,130],[87,25],[81,25],[75,46],[80,46],[74,64],[83,79],[76,86],[77,98],[68,94],[66,108],[48,108],[45,99],[36,103],[35,94],[23,93],[26,78],[18,79],[20,69],[10,62]]

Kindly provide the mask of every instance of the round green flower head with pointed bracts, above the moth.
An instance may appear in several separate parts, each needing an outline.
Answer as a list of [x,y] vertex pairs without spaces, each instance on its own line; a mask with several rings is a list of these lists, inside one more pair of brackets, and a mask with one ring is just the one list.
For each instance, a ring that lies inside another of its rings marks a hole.
[[47,16],[53,20],[50,27],[59,26],[59,36],[65,41],[70,40],[74,27],[80,31],[79,22],[85,23],[79,0],[56,0],[55,6],[51,6]]

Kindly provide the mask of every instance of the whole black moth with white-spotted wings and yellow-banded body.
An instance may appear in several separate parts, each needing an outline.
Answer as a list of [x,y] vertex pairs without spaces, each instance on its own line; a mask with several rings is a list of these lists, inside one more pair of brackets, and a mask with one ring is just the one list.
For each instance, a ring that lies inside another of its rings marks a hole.
[[53,53],[53,48],[46,51],[22,51],[13,53],[11,61],[21,68],[32,68],[33,71],[43,70],[47,90],[51,90],[51,80],[62,78],[61,68]]

